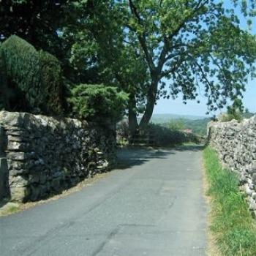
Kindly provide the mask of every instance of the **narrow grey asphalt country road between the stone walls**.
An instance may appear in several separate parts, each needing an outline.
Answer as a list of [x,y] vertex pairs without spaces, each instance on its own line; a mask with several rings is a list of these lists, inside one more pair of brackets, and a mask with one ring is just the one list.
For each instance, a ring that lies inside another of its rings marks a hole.
[[206,255],[200,147],[125,149],[106,178],[0,218],[1,256]]

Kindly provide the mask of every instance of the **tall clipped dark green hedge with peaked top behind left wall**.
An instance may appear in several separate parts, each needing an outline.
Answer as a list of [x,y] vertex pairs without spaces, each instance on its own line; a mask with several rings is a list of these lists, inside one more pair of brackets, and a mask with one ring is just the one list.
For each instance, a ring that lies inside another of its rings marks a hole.
[[61,67],[54,56],[37,52],[17,36],[1,44],[0,54],[5,68],[2,75],[7,80],[3,91],[7,110],[50,115],[62,113]]

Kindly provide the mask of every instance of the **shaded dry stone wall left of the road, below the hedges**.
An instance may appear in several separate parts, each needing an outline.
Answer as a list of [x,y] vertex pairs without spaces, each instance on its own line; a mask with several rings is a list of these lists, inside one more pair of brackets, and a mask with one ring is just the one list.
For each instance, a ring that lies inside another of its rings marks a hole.
[[113,124],[0,112],[0,199],[39,200],[105,172],[115,161]]

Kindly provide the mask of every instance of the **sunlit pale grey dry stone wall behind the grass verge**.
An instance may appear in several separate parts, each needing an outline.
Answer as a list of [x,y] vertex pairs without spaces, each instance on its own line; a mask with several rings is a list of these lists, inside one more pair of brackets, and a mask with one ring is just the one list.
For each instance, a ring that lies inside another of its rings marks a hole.
[[208,139],[225,167],[238,173],[241,187],[256,211],[256,116],[249,119],[208,124]]

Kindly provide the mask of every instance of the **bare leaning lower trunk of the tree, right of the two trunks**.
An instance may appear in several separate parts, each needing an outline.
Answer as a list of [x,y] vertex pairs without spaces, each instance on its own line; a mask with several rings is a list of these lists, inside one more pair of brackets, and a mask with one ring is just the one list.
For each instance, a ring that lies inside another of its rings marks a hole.
[[158,86],[158,80],[157,79],[152,80],[151,86],[148,90],[146,110],[143,114],[143,117],[139,125],[140,129],[146,129],[151,119],[151,116],[153,114],[154,104],[157,98],[157,86]]

